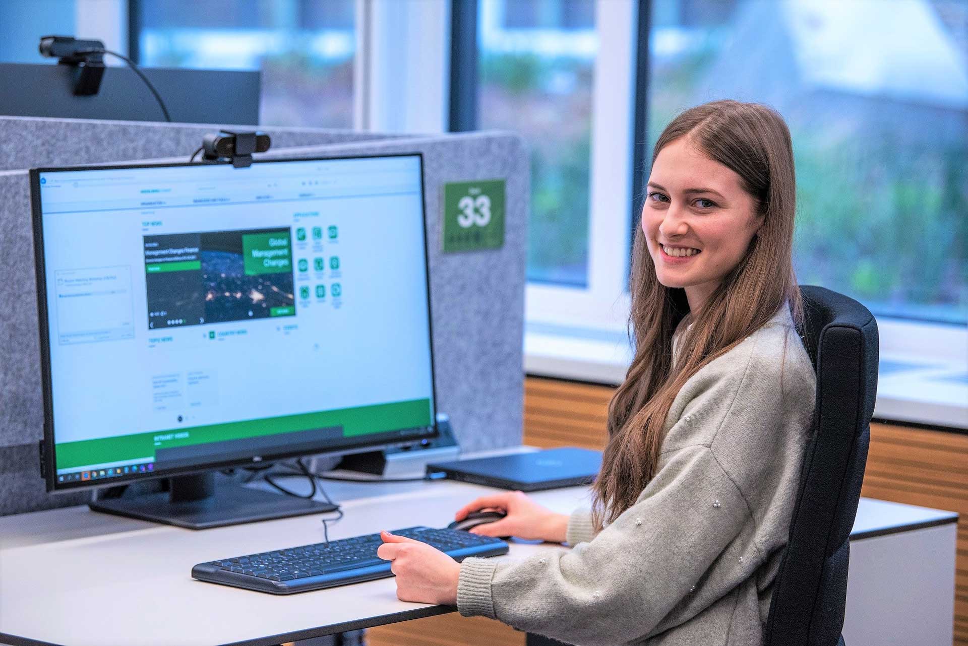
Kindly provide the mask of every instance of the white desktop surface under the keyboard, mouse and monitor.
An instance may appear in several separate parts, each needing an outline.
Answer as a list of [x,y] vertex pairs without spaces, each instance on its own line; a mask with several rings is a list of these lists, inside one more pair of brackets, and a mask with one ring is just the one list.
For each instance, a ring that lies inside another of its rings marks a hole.
[[[295,483],[293,483],[295,485]],[[449,481],[327,483],[345,517],[330,539],[410,525],[441,527],[488,487]],[[561,513],[587,501],[571,487],[533,494]],[[190,576],[192,566],[322,541],[320,515],[192,531],[73,507],[0,518],[0,642],[182,646],[283,641],[454,610],[401,602],[392,578],[277,597]],[[953,522],[956,514],[862,499],[854,534]],[[874,532],[875,534],[871,534]],[[560,545],[512,543],[505,557]]]

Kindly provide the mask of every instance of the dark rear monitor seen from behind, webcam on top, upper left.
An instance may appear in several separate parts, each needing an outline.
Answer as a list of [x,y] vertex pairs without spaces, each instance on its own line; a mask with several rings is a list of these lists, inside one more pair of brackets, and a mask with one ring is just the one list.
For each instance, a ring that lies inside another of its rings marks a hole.
[[[179,123],[255,126],[261,73],[228,70],[144,68],[144,75]],[[132,70],[108,67],[98,94],[74,94],[76,68],[70,65],[0,63],[0,114],[61,119],[165,121],[144,81]]]

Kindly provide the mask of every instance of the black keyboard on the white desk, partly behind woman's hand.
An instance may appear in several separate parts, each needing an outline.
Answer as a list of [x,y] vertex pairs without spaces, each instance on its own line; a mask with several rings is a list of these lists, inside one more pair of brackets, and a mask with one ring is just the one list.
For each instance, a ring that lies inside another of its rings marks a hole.
[[[430,543],[456,561],[463,561],[469,556],[507,553],[507,543],[500,539],[455,529],[408,527],[391,533]],[[390,562],[377,556],[377,548],[382,543],[379,534],[368,534],[329,543],[246,554],[199,563],[192,568],[192,576],[201,581],[274,595],[308,592],[393,576]]]

